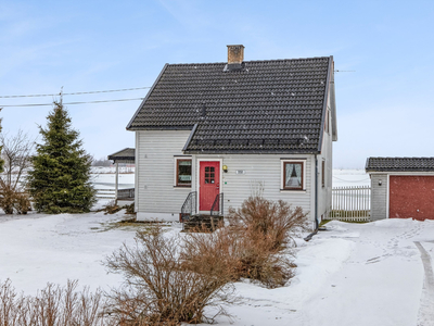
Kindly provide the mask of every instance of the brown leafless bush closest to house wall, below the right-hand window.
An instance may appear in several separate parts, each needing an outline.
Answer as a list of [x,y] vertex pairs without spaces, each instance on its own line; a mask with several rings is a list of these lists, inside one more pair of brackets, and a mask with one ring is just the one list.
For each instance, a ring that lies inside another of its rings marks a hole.
[[271,250],[280,250],[293,240],[296,230],[306,228],[306,215],[302,208],[292,209],[283,200],[256,196],[245,200],[238,210],[229,209],[227,218],[232,226],[245,229],[252,241],[264,241],[265,236],[271,241]]

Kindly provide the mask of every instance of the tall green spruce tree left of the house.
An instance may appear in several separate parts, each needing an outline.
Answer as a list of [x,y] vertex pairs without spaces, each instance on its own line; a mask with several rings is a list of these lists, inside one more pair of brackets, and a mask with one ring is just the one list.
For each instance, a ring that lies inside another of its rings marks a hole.
[[71,126],[71,117],[62,101],[54,101],[47,116],[48,126],[39,126],[42,143],[31,159],[28,190],[38,212],[89,212],[95,202],[90,183],[92,159],[81,148],[78,131]]

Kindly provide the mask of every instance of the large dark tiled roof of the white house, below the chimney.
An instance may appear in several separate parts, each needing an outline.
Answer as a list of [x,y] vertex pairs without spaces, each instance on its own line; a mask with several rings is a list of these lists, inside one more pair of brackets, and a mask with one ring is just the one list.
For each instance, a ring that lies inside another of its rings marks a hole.
[[316,153],[332,61],[167,64],[127,129],[194,127],[186,153]]

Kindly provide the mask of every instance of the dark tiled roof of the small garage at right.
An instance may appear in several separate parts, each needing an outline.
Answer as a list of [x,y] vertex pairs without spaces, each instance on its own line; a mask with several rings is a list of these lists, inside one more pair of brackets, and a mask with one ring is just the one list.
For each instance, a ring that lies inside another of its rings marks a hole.
[[434,158],[369,158],[366,172],[434,172]]

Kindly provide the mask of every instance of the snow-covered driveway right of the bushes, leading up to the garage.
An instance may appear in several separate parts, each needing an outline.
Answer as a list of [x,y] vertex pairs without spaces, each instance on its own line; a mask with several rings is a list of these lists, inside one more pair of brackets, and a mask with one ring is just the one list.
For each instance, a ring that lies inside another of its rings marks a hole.
[[434,222],[327,227],[297,249],[297,274],[289,287],[237,286],[243,303],[229,310],[235,325],[434,325],[434,288],[424,283],[430,273],[414,243],[429,253],[433,277]]

